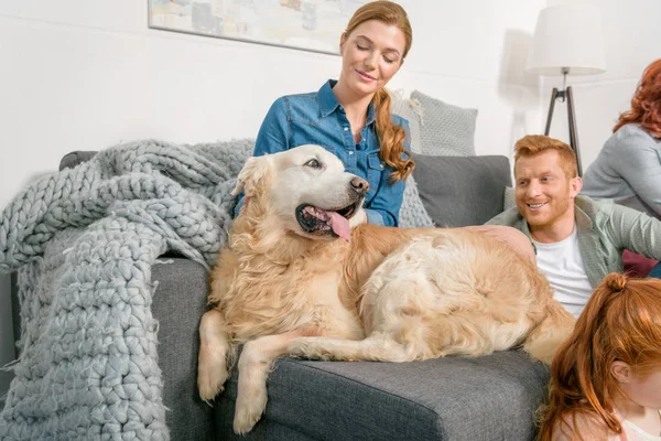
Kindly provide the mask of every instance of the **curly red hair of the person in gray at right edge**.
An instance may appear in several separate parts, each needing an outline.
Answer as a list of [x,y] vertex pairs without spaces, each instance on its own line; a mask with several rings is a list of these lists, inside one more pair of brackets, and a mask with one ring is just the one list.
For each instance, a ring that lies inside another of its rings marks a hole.
[[661,58],[646,67],[631,98],[631,109],[619,116],[613,131],[631,122],[661,139]]

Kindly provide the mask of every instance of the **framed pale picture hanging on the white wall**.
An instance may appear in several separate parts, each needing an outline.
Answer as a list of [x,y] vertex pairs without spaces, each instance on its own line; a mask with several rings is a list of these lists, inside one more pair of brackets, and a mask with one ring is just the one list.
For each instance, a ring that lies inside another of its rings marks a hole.
[[338,54],[339,35],[369,0],[148,0],[149,26]]

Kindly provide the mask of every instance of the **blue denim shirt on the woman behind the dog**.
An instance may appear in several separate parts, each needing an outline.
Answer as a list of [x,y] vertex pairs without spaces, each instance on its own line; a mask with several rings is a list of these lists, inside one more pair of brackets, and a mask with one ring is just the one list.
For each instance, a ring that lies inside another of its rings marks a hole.
[[[334,153],[345,170],[369,182],[364,208],[367,220],[375,225],[398,226],[404,181],[390,184],[394,170],[379,158],[376,112],[369,105],[367,123],[359,143],[354,142],[344,107],[333,94],[335,80],[328,80],[316,93],[278,98],[269,109],[257,136],[253,155],[271,154],[303,144],[318,144]],[[407,130],[404,147],[409,150],[409,122],[393,115],[392,121]],[[237,204],[238,213],[242,200]]]

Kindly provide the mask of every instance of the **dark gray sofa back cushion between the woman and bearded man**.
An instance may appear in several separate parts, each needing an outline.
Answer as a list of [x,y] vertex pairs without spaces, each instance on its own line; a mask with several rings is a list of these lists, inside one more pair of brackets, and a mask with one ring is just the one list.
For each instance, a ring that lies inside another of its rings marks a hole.
[[420,200],[436,226],[483,225],[502,212],[505,187],[511,185],[507,157],[415,154],[413,160]]

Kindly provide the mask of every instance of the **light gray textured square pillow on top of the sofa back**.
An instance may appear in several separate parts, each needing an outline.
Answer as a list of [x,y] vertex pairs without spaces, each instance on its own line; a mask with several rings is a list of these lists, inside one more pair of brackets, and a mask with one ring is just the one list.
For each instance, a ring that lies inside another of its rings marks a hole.
[[420,101],[422,153],[433,155],[475,155],[475,120],[477,109],[465,109],[443,103],[418,90],[411,98]]

